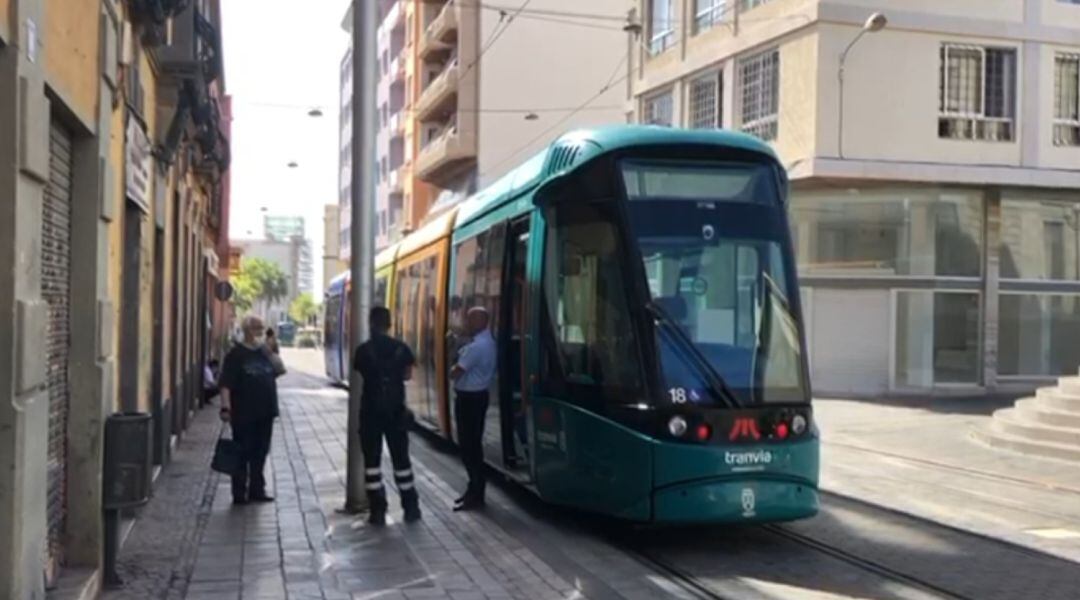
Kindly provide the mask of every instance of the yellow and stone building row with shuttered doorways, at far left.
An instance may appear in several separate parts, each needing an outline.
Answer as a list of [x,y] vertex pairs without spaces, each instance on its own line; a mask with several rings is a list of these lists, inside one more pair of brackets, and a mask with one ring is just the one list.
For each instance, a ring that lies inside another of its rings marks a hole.
[[214,352],[218,3],[164,4],[0,1],[3,598],[96,595],[106,420],[150,415],[164,466]]

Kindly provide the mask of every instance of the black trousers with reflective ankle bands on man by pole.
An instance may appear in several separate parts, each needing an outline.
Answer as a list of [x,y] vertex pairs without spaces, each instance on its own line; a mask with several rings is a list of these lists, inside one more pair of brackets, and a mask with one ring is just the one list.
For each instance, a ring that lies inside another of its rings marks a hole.
[[394,483],[401,492],[405,508],[416,507],[418,496],[413,477],[413,462],[408,456],[408,423],[405,415],[386,415],[378,412],[361,413],[360,445],[364,451],[364,489],[373,510],[386,510],[387,494],[382,487],[382,440],[390,448],[390,462],[394,465]]

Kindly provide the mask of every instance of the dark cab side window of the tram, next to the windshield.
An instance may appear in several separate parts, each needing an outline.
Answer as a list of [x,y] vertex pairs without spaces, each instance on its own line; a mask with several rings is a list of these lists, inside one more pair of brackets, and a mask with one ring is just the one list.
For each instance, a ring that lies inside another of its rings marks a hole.
[[607,399],[630,401],[626,394],[643,388],[640,354],[613,208],[572,202],[549,209],[548,219],[544,294],[554,340],[548,345],[558,368],[546,379],[563,380],[548,383],[600,387]]

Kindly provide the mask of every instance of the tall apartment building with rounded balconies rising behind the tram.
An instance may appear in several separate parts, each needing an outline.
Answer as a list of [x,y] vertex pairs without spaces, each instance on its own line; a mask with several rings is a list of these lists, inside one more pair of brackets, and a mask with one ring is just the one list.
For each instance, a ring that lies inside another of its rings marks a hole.
[[[625,84],[619,76],[627,59],[623,26],[633,3],[536,0],[518,13],[481,2],[380,0],[376,249],[494,181],[558,134],[624,122]],[[347,15],[343,26],[350,25]],[[347,53],[342,258],[350,254],[351,97]]]

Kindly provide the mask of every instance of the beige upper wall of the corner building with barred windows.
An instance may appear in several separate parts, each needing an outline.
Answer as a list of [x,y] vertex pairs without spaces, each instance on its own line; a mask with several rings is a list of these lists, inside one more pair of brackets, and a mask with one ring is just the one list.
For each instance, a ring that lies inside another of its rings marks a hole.
[[[847,60],[843,154],[849,161],[1075,169],[1080,149],[1054,147],[1053,55],[1080,52],[1080,6],[984,0],[774,0],[732,24],[698,36],[679,16],[675,47],[648,58],[634,74],[634,105],[662,88],[676,91],[676,123],[685,124],[685,82],[723,66],[725,126],[738,126],[733,65],[739,56],[779,45],[780,126],[774,147],[785,164],[839,154],[839,56],[865,15],[882,11],[889,27],[866,35]],[[686,6],[692,0],[684,0]],[[640,3],[640,8],[646,4]],[[647,19],[647,15],[644,17]],[[1000,25],[994,25],[1000,22]],[[1072,27],[1072,29],[1068,29]],[[1075,40],[1075,42],[1072,41]],[[942,139],[937,134],[940,51],[944,42],[1016,49],[1013,141]],[[1028,54],[1036,53],[1037,56]],[[881,163],[883,164],[883,163]],[[999,169],[1001,173],[1005,173]],[[1029,171],[1028,173],[1034,173]]]

